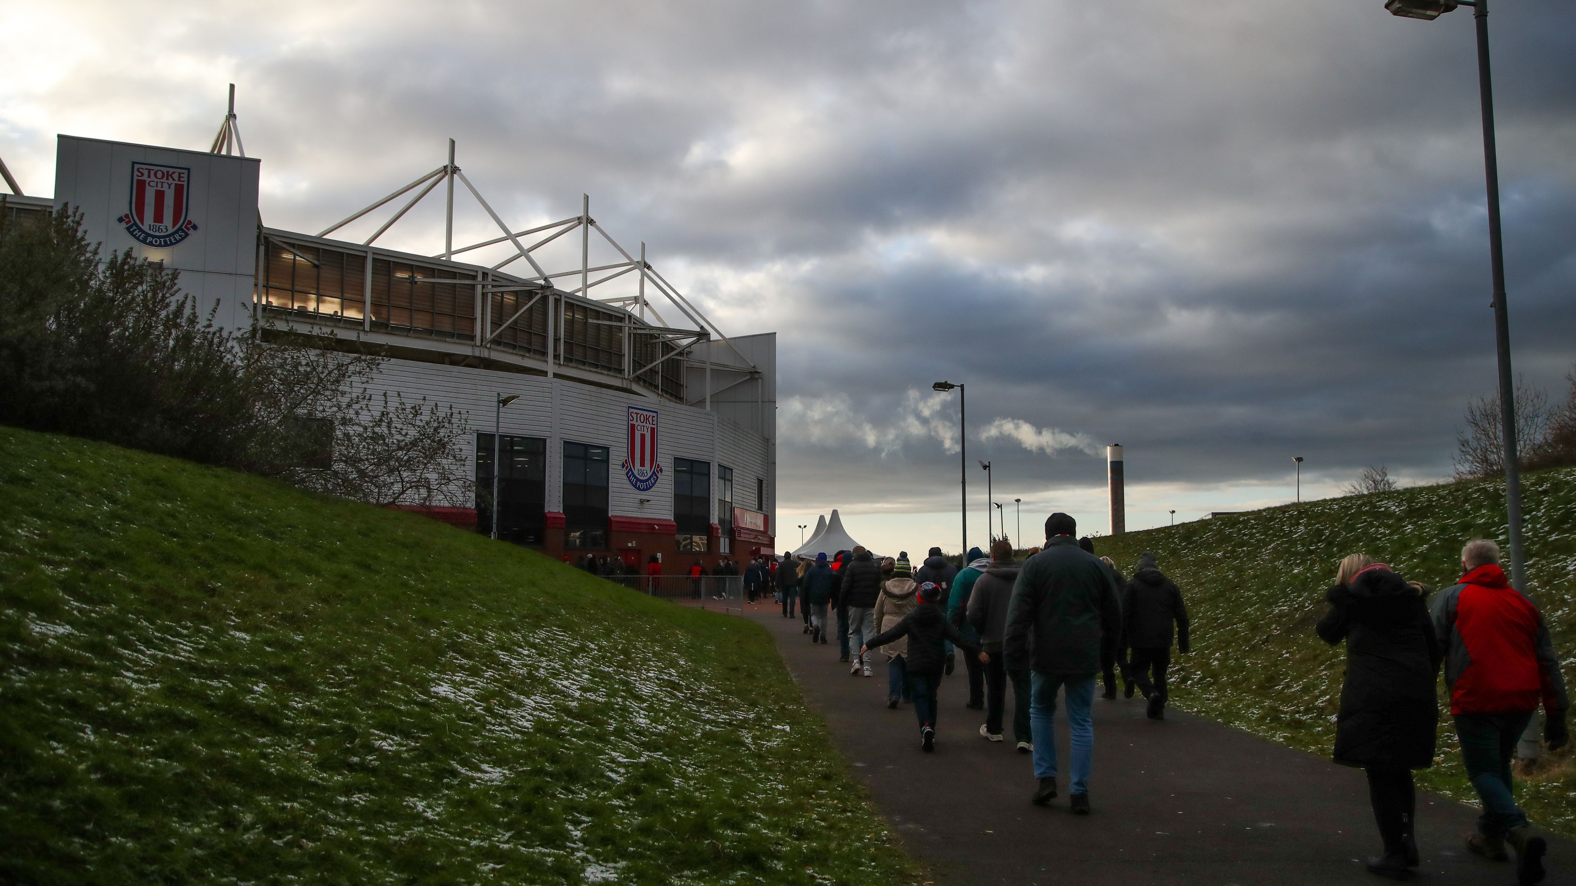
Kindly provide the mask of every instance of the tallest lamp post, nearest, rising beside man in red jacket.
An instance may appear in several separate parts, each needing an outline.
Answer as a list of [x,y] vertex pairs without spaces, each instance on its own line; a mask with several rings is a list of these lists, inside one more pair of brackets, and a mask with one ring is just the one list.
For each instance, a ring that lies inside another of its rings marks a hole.
[[1483,181],[1488,191],[1488,257],[1494,282],[1494,348],[1499,355],[1499,424],[1505,446],[1505,511],[1510,575],[1526,590],[1521,552],[1521,465],[1516,452],[1516,380],[1510,372],[1510,307],[1505,304],[1505,248],[1499,230],[1499,151],[1494,145],[1494,84],[1488,58],[1488,0],[1388,0],[1392,16],[1434,20],[1456,6],[1472,6],[1478,43],[1478,101],[1483,104]]

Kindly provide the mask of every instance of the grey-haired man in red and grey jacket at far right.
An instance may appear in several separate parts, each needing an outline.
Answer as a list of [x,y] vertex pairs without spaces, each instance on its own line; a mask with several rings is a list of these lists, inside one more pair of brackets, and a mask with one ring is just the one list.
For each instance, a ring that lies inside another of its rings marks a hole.
[[1510,586],[1499,545],[1474,541],[1461,550],[1461,580],[1434,596],[1431,616],[1445,657],[1450,714],[1456,720],[1461,761],[1483,801],[1467,848],[1505,861],[1516,851],[1516,878],[1540,883],[1548,840],[1516,806],[1510,758],[1532,714],[1543,703],[1549,750],[1570,741],[1565,678],[1543,613]]

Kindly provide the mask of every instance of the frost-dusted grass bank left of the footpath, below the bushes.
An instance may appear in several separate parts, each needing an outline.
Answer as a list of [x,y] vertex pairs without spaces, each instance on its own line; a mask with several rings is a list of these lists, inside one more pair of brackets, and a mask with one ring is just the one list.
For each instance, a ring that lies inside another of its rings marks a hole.
[[0,427],[0,880],[909,883],[771,637]]

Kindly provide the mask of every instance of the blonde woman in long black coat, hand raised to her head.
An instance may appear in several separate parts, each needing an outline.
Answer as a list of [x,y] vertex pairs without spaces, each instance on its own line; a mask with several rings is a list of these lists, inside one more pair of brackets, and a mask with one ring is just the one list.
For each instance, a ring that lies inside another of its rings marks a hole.
[[[1128,583],[1130,593],[1141,575],[1143,569]],[[1412,769],[1434,763],[1439,640],[1418,590],[1366,553],[1341,560],[1325,599],[1330,610],[1316,626],[1319,637],[1332,646],[1346,640],[1335,761],[1368,774],[1368,801],[1384,842],[1368,870],[1407,880],[1418,866]]]

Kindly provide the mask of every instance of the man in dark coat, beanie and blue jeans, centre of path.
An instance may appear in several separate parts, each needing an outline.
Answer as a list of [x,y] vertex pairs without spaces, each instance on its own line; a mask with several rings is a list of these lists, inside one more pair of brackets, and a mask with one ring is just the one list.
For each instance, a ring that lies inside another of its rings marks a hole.
[[1075,815],[1089,815],[1089,766],[1094,755],[1094,681],[1100,648],[1116,648],[1122,607],[1105,564],[1084,553],[1067,514],[1045,520],[1045,550],[1023,564],[1007,607],[1002,657],[1009,675],[1029,673],[1029,730],[1034,735],[1032,802],[1056,799],[1056,694],[1065,686],[1072,766],[1067,793]]

